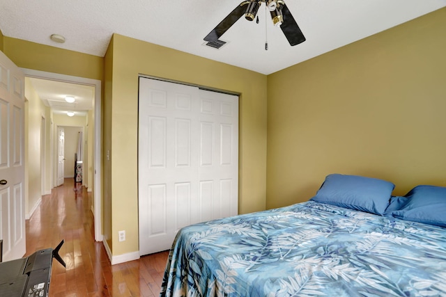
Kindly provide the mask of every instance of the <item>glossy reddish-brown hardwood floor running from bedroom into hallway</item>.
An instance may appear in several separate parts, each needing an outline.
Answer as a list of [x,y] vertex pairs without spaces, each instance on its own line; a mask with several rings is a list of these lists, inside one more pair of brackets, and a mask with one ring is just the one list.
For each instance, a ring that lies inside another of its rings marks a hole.
[[26,256],[65,241],[59,253],[66,268],[53,261],[49,296],[158,296],[168,252],[112,266],[94,241],[90,201],[85,188],[65,179],[26,220]]

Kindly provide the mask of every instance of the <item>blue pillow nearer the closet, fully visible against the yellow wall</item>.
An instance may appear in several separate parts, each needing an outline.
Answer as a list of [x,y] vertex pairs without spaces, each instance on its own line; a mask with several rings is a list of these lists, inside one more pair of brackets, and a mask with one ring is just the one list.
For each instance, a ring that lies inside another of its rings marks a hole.
[[383,179],[333,174],[325,177],[325,182],[311,200],[384,214],[394,187],[394,184]]

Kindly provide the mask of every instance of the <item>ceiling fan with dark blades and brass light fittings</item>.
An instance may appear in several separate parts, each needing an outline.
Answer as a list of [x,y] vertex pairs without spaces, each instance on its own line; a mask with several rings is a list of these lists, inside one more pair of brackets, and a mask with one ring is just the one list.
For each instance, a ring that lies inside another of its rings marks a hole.
[[[280,26],[286,39],[291,46],[298,45],[305,41],[305,36],[300,31],[298,24],[295,22],[290,10],[286,7],[283,0],[247,0],[240,3],[228,16],[226,16],[220,24],[218,24],[213,31],[210,31],[204,38],[207,42],[219,42],[219,38],[228,31],[233,24],[235,24],[243,14],[245,19],[253,21],[256,18],[257,10],[261,3],[266,3],[266,8],[270,11],[272,23],[275,26]],[[259,22],[259,18],[257,18]],[[266,44],[268,49],[268,44]]]

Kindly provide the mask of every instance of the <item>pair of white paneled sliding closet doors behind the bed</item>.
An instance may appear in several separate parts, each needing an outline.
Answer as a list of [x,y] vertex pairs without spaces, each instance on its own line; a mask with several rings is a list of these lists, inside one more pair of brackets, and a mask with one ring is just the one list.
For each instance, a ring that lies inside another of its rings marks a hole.
[[139,78],[139,254],[238,214],[238,96]]

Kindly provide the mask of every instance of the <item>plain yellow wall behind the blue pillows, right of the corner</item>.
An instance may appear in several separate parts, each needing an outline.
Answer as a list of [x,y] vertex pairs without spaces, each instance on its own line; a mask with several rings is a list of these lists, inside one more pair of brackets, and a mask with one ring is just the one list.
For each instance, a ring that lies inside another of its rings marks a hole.
[[268,76],[267,208],[326,175],[446,186],[446,8]]

